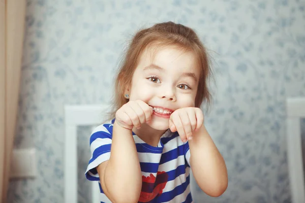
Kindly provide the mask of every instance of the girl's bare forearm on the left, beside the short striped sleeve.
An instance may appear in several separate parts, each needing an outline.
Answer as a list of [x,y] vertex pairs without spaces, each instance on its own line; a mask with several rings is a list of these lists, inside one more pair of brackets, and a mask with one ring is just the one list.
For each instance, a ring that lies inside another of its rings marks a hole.
[[117,201],[137,202],[142,176],[132,131],[114,122],[111,156],[105,167],[104,184]]

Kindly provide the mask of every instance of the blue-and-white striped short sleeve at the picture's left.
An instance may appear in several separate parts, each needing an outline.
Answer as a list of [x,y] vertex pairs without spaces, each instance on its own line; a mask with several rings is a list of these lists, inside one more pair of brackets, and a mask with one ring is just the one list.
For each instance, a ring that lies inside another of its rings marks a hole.
[[96,127],[90,136],[91,157],[85,172],[90,181],[99,181],[96,167],[109,160],[112,143],[112,124],[103,124]]

